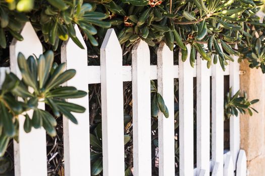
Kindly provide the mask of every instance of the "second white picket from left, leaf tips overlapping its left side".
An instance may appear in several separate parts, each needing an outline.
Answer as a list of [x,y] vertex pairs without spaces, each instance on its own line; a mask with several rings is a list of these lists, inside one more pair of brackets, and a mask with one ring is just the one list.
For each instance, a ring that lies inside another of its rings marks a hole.
[[[75,86],[78,90],[88,92],[88,83],[84,81],[87,74],[87,49],[83,37],[75,26],[76,36],[85,49],[79,48],[72,39],[64,42],[61,49],[62,62],[66,62],[67,69],[75,69],[76,75],[67,82],[68,86]],[[83,81],[81,81],[83,80]],[[64,117],[64,160],[65,175],[90,175],[90,146],[89,146],[89,106],[88,96],[80,99],[68,100],[86,108],[85,113],[73,113],[78,125]],[[82,136],[82,140],[80,140]],[[82,151],[82,152],[80,152]]]

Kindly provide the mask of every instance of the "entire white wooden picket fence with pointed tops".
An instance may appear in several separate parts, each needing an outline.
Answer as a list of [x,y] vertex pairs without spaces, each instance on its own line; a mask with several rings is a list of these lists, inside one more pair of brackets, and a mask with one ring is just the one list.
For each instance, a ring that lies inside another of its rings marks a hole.
[[[76,35],[85,46],[78,27]],[[21,35],[10,46],[10,70],[21,77],[17,55],[26,57],[42,53],[41,43],[28,22]],[[188,53],[190,46],[187,45]],[[157,51],[157,65],[150,65],[148,45],[140,41],[132,51],[132,66],[122,65],[122,49],[113,29],[109,29],[100,48],[100,66],[87,66],[87,49],[80,49],[70,39],[62,46],[62,61],[67,69],[77,70],[68,85],[88,91],[88,84],[101,83],[103,175],[122,176],[124,171],[123,81],[132,81],[133,95],[133,165],[134,175],[151,175],[150,79],[157,79],[158,92],[169,110],[169,118],[158,116],[159,175],[175,175],[174,147],[174,78],[179,79],[180,175],[246,175],[246,155],[240,150],[239,118],[230,119],[230,151],[224,154],[224,75],[230,75],[233,94],[239,89],[239,64],[230,62],[223,72],[219,64],[206,68],[206,61],[197,59],[173,64],[173,52],[165,44]],[[181,58],[181,54],[180,57]],[[188,56],[189,58],[189,56]],[[197,58],[200,55],[197,54]],[[2,67],[0,82],[5,71]],[[211,90],[211,153],[210,159],[210,76]],[[193,164],[193,77],[197,79],[197,168]],[[0,84],[1,85],[1,84]],[[75,125],[64,118],[64,161],[66,176],[90,175],[88,97],[69,100],[87,111],[74,114]],[[44,108],[44,105],[40,105]],[[20,126],[23,127],[23,117]],[[20,142],[14,142],[16,176],[47,175],[46,138],[43,129],[29,134],[20,128]],[[236,171],[236,172],[234,172]],[[236,173],[236,174],[235,174]]]

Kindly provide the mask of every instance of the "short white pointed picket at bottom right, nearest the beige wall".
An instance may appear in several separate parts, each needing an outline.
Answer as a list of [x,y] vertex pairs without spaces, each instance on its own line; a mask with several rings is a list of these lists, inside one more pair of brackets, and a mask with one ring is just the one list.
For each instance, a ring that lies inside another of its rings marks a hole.
[[239,151],[236,168],[236,176],[247,175],[247,157],[244,150]]

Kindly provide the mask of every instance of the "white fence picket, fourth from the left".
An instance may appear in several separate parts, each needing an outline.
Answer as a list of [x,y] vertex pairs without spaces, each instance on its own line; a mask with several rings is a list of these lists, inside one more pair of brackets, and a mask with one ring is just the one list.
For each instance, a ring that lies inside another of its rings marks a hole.
[[150,53],[144,41],[132,50],[133,167],[135,176],[151,176]]

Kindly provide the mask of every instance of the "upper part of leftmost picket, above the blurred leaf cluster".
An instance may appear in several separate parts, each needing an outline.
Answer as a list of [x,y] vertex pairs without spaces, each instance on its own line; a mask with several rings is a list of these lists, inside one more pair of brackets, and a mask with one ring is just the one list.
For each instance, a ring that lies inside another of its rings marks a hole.
[[17,64],[18,53],[22,52],[26,58],[33,54],[38,57],[42,54],[42,45],[30,22],[25,23],[20,35],[22,35],[23,40],[18,41],[14,38],[10,45],[10,68],[12,72],[21,78]]

